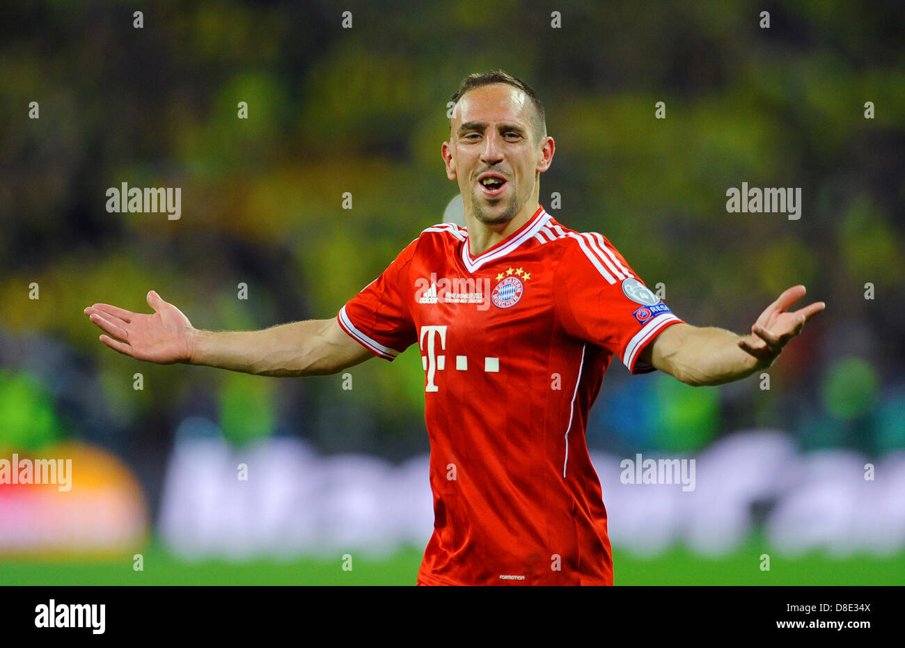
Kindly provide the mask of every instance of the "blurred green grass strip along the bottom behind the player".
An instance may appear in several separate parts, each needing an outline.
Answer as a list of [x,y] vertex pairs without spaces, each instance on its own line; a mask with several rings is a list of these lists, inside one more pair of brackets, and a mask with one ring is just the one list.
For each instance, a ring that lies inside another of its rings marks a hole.
[[[770,570],[761,571],[760,556],[771,555]],[[189,563],[176,559],[160,545],[144,552],[144,571],[132,560],[119,562],[28,562],[0,565],[0,586],[414,586],[424,551],[405,548],[385,559],[352,555],[350,571],[344,557],[294,559],[286,562],[255,560],[234,564],[222,560]],[[681,547],[656,557],[638,557],[614,548],[614,584],[617,586],[902,586],[905,552],[891,557],[856,555],[828,557],[813,552],[784,558],[751,538],[741,548],[719,558],[700,557]],[[348,563],[347,563],[348,564]]]

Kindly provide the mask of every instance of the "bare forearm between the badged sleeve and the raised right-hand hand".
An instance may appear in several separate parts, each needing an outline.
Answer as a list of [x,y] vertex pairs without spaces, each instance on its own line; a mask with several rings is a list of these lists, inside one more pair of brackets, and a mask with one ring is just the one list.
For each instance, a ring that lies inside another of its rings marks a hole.
[[[716,327],[689,326],[665,359],[672,376],[693,386],[722,385],[757,371],[757,359],[738,348],[738,336]],[[753,338],[753,336],[748,336]]]

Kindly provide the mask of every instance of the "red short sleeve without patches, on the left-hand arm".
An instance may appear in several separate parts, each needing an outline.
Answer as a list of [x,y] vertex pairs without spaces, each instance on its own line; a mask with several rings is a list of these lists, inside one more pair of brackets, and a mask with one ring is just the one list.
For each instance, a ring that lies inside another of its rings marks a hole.
[[412,285],[408,268],[418,243],[396,256],[389,267],[339,310],[339,326],[376,356],[394,360],[417,340],[408,300]]

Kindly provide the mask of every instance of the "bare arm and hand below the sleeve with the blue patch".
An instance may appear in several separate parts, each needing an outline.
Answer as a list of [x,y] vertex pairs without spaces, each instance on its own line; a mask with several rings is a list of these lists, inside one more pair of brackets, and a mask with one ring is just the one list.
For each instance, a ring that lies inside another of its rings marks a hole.
[[808,319],[826,304],[817,301],[795,312],[787,309],[805,296],[804,286],[784,291],[751,326],[738,336],[725,329],[673,324],[647,345],[640,358],[683,383],[722,385],[770,367],[788,341],[801,333]]

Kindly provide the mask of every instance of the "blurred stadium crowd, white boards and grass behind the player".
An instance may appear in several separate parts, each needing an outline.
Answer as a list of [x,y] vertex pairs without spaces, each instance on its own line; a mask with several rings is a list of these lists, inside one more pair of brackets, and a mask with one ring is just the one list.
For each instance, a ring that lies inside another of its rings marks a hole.
[[[446,102],[497,68],[547,106],[541,204],[605,233],[681,318],[746,332],[795,283],[827,304],[769,390],[614,363],[587,439],[616,584],[905,583],[903,16],[897,2],[5,2],[0,457],[72,458],[73,487],[0,485],[0,584],[414,584],[433,519],[417,349],[353,367],[344,389],[138,363],[81,311],[147,311],[155,289],[205,329],[335,316],[444,220]],[[181,187],[181,218],[108,213],[122,182]],[[802,187],[801,219],[728,214],[742,182]],[[696,490],[620,483],[635,453],[696,458]]]

